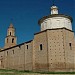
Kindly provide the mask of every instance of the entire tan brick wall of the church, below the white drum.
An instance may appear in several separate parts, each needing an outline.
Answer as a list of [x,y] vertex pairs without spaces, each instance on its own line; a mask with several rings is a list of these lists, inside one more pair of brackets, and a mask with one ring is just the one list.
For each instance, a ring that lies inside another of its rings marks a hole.
[[74,33],[51,29],[36,33],[28,41],[0,51],[0,69],[30,71],[73,71],[75,68]]

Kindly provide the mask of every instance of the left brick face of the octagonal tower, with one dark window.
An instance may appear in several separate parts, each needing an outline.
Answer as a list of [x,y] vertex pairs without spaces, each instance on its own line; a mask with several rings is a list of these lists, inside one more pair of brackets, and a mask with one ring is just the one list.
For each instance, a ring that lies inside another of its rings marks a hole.
[[46,32],[34,36],[35,70],[48,71],[48,46]]

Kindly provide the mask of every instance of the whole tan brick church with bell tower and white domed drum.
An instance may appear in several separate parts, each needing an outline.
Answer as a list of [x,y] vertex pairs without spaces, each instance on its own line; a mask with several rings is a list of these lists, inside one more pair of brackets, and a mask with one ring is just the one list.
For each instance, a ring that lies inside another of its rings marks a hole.
[[72,18],[58,14],[57,6],[51,14],[39,20],[41,31],[34,39],[17,45],[15,28],[10,24],[4,49],[0,51],[0,69],[29,71],[74,71],[75,38]]

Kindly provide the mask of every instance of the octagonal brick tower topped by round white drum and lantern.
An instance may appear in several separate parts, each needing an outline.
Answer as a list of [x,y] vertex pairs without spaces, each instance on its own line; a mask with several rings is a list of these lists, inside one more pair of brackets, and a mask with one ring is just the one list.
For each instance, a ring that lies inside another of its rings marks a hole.
[[58,7],[51,7],[51,14],[38,21],[41,31],[35,34],[35,67],[37,71],[73,71],[75,68],[75,39],[72,17],[58,14]]

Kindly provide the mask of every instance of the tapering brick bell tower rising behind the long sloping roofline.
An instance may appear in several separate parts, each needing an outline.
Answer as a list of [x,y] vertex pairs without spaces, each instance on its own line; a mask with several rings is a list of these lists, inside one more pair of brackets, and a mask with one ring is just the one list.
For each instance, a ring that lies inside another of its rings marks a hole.
[[5,46],[4,48],[9,48],[15,46],[17,44],[17,37],[15,36],[15,28],[11,23],[7,30],[7,36],[5,38]]

